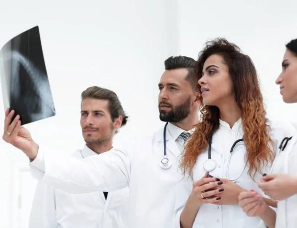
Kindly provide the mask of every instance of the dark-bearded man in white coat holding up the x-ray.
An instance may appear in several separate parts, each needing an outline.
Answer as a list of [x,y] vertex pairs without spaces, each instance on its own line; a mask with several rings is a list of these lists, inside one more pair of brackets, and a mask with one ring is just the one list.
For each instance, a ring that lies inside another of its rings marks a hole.
[[[31,138],[13,111],[6,111],[3,139],[31,159],[33,174],[42,182],[69,193],[114,191],[129,186],[129,228],[172,228],[174,187],[183,179],[178,171],[183,145],[200,107],[195,60],[170,57],[159,82],[160,119],[164,128],[151,137],[137,137],[122,147],[82,161],[47,151]],[[167,123],[168,122],[168,123]]]

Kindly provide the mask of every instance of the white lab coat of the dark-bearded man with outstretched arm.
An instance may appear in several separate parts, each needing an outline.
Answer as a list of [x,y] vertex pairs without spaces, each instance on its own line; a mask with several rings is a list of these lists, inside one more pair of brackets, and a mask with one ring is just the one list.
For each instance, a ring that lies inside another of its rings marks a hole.
[[[169,129],[175,129],[174,133]],[[57,160],[57,151],[46,151],[41,145],[30,166],[42,182],[70,193],[114,191],[129,186],[129,228],[173,228],[172,189],[187,179],[178,172],[181,151],[175,139],[182,132],[170,123],[167,126],[167,158],[172,162],[167,170],[159,166],[164,154],[163,128],[152,137],[136,137],[121,148],[82,161]]]

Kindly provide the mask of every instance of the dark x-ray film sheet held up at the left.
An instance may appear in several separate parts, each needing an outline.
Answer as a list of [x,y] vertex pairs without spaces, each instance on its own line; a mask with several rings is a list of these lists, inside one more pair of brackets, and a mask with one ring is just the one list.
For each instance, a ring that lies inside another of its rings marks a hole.
[[55,115],[38,26],[2,47],[0,78],[4,110],[15,110],[22,125]]

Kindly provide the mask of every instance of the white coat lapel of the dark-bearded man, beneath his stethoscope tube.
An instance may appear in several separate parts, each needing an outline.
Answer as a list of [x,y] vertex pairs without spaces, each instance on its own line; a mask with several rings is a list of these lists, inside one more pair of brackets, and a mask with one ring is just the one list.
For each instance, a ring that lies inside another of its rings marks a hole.
[[[164,128],[161,128],[156,134],[156,139],[159,143],[159,147],[162,148],[162,151],[164,150],[163,130]],[[172,153],[177,159],[179,159],[181,155],[181,152],[178,146],[176,145],[175,140],[169,133],[168,127],[166,128],[166,153]]]

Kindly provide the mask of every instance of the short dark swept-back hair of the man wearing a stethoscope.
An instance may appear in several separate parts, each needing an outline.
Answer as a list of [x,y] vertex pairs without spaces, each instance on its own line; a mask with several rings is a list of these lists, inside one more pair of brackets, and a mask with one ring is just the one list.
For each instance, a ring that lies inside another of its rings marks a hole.
[[198,87],[198,78],[194,76],[194,65],[196,61],[191,57],[186,56],[172,56],[165,60],[165,70],[173,69],[188,69],[189,73],[187,74],[185,80],[189,81],[194,90]]

